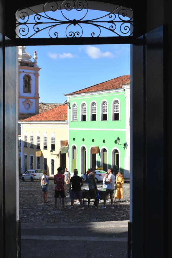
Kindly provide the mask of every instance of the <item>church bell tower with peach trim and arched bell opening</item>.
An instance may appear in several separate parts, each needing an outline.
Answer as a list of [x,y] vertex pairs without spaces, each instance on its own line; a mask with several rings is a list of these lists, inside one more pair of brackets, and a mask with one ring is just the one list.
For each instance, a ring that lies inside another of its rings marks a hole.
[[19,61],[19,120],[39,113],[39,70],[36,51],[34,61],[25,51],[25,46],[18,47]]

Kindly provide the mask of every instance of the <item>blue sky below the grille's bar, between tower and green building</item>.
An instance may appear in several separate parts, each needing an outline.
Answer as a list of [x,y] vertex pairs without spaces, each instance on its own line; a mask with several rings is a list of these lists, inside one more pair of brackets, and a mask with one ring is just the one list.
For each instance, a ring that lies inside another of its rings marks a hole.
[[40,102],[63,103],[66,93],[130,74],[130,45],[27,46],[37,51]]

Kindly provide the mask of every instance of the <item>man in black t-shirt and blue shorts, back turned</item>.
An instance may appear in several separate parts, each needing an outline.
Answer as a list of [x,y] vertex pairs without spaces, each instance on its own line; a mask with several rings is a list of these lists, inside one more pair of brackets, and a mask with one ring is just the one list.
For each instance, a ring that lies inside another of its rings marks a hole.
[[74,206],[74,199],[75,196],[77,196],[81,209],[83,210],[83,204],[82,204],[82,193],[81,193],[81,186],[84,184],[82,178],[78,176],[78,170],[74,169],[74,176],[71,177],[70,180],[70,188],[71,190],[71,207],[69,207],[70,210],[73,210]]

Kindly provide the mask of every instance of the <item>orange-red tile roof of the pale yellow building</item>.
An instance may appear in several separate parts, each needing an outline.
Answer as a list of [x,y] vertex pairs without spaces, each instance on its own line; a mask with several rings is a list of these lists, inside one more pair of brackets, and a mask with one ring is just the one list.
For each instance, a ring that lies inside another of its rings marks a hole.
[[65,121],[68,119],[67,104],[49,109],[41,114],[28,117],[21,121]]

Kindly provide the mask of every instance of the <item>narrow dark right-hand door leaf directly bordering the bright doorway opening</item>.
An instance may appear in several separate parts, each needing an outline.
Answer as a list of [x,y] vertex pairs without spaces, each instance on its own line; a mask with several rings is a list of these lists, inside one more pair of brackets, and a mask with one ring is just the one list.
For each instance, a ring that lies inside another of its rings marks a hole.
[[[130,221],[132,224],[132,258],[144,257],[144,37],[131,48],[130,94]],[[133,168],[132,168],[133,164]],[[138,239],[139,235],[139,239]],[[138,241],[139,240],[139,241]],[[130,257],[130,256],[129,256]]]

